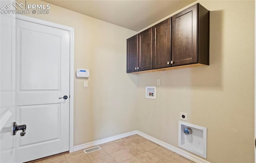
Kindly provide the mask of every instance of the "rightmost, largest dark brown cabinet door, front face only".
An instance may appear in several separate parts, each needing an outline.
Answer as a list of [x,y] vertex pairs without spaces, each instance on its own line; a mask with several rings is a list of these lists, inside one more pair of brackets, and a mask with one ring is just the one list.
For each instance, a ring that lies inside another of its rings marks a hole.
[[172,66],[198,63],[198,4],[172,16]]

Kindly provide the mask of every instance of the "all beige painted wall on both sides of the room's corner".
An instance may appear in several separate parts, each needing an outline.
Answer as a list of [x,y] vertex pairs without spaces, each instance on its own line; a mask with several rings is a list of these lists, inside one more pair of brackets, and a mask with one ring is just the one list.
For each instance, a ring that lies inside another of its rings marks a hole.
[[[74,79],[74,145],[138,129],[178,147],[186,112],[208,129],[207,161],[254,162],[254,1],[197,2],[211,11],[210,66],[138,75],[126,74],[126,39],[136,32],[54,5],[30,15],[74,27],[75,69],[90,70],[89,88]],[[156,79],[157,99],[145,99]]]

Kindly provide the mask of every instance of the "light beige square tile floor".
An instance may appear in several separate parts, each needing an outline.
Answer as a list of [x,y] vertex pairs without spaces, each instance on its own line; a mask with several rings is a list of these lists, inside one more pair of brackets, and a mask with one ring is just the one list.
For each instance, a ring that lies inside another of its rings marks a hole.
[[139,135],[101,144],[91,153],[83,150],[58,155],[35,163],[194,163]]

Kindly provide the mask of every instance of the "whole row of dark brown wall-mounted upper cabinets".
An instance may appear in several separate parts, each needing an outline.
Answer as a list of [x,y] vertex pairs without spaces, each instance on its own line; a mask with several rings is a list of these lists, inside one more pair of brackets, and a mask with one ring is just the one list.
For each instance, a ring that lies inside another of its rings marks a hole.
[[127,72],[209,65],[210,12],[195,4],[127,39]]

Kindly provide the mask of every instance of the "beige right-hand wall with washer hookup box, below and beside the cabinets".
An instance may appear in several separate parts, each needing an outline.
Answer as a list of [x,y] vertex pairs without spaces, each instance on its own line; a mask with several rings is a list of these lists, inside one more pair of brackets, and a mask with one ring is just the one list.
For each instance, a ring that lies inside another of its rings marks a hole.
[[[138,130],[178,147],[185,112],[208,129],[208,161],[253,163],[254,1],[197,2],[210,10],[210,66],[139,74]],[[157,79],[157,99],[146,99]]]

